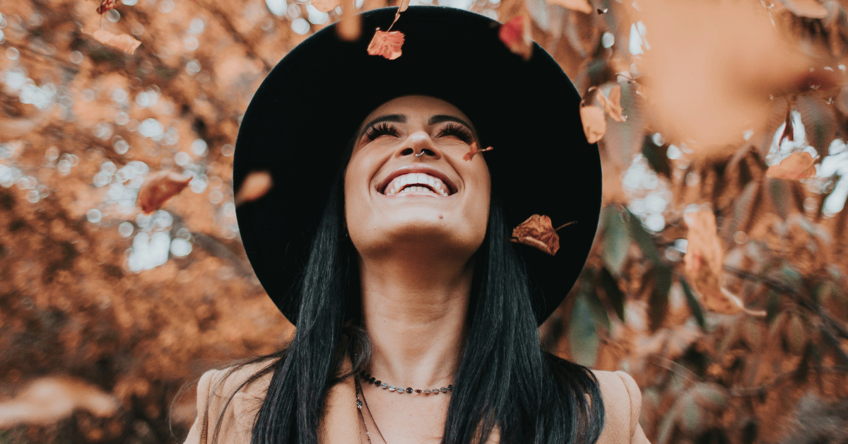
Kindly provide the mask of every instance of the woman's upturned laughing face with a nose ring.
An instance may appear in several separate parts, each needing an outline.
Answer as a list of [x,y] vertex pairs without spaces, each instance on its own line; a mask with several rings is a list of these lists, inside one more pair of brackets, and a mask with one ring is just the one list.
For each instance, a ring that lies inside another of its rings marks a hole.
[[470,257],[483,244],[491,180],[477,132],[454,105],[404,96],[365,118],[344,177],[345,219],[362,256]]

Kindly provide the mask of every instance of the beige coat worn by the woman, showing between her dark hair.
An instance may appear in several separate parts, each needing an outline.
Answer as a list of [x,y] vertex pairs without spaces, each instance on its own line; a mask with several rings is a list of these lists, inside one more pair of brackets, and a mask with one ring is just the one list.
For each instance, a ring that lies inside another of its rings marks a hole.
[[[221,409],[238,385],[263,365],[252,364],[238,369],[220,384],[229,369],[209,370],[198,382],[198,418],[188,432],[186,444],[210,444]],[[642,394],[639,386],[624,372],[593,371],[600,382],[604,399],[606,420],[604,431],[597,444],[650,444],[639,425],[639,410]],[[218,442],[220,444],[249,444],[253,420],[265,391],[271,382],[271,374],[256,379],[232,398],[226,406],[220,422]],[[321,420],[320,441],[322,444],[360,444],[360,418],[354,404],[355,391],[352,378],[332,387],[326,398],[326,413]],[[207,410],[207,406],[209,409]],[[208,413],[206,413],[208,412]],[[486,444],[496,444],[494,434]]]

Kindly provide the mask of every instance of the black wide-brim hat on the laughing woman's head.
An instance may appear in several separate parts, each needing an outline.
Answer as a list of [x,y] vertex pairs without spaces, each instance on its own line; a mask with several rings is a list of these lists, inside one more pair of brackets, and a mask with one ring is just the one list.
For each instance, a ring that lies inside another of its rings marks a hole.
[[[393,31],[404,33],[402,55],[389,60],[366,48],[397,8],[361,14],[356,42],[326,26],[293,48],[262,82],[238,132],[236,192],[251,171],[270,171],[273,188],[240,205],[244,249],[259,282],[282,314],[297,323],[291,292],[321,220],[335,166],[371,111],[392,98],[423,94],[462,110],[477,127],[484,154],[514,228],[539,214],[559,231],[550,256],[522,249],[538,323],[574,285],[589,256],[600,214],[598,147],[588,143],[580,95],[538,44],[529,60],[498,37],[500,24],[456,8],[413,6]],[[481,147],[482,148],[482,147]]]

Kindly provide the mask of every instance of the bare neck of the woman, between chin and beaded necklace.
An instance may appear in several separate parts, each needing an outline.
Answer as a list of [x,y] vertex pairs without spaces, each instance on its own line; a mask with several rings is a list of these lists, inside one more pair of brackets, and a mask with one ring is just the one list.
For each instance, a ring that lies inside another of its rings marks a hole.
[[427,256],[360,256],[371,375],[389,385],[453,384],[462,356],[473,258]]

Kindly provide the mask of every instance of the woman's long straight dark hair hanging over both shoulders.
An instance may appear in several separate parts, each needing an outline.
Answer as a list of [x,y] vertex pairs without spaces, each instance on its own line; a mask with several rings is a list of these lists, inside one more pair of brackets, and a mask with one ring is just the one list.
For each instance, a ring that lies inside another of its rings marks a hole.
[[[296,334],[284,350],[252,360],[273,361],[239,385],[273,374],[251,444],[317,444],[327,391],[369,363],[370,347],[357,327],[355,251],[344,237],[343,179],[353,146],[351,141],[338,166],[304,267]],[[527,273],[508,240],[495,177],[492,182],[487,234],[474,259],[468,335],[442,442],[482,443],[497,425],[504,444],[594,444],[604,424],[598,381],[589,368],[542,350]],[[343,357],[354,352],[350,372],[339,374]]]

